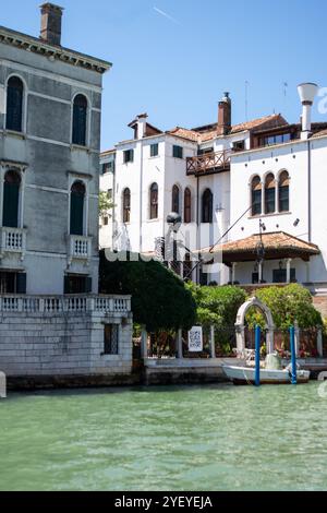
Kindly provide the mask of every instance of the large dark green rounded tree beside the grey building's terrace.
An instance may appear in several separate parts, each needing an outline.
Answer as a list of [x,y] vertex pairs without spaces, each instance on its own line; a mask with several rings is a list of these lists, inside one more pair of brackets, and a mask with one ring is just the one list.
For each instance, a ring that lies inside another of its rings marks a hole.
[[182,279],[157,261],[132,260],[129,254],[126,262],[109,262],[100,251],[100,291],[132,295],[134,322],[150,333],[190,330],[196,307]]

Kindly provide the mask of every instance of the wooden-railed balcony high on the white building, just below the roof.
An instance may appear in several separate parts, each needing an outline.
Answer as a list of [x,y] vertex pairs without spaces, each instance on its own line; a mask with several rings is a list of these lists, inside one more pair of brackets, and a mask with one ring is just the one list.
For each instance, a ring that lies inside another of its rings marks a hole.
[[186,159],[186,175],[207,175],[213,172],[228,171],[230,169],[231,152],[207,153]]

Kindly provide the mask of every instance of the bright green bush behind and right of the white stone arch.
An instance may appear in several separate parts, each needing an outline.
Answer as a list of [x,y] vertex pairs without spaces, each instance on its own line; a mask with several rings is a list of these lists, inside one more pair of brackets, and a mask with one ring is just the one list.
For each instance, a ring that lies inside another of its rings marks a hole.
[[[320,313],[314,308],[310,291],[298,284],[269,287],[256,291],[256,297],[271,311],[277,329],[288,330],[298,321],[302,329],[323,326]],[[246,315],[250,326],[265,326],[263,314],[252,310]]]

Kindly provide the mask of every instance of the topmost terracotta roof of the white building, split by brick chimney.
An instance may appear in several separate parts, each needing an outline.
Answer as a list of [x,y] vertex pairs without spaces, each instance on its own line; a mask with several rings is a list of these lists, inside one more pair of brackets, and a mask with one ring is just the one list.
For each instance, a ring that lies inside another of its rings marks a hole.
[[[252,121],[246,121],[244,123],[234,124],[229,133],[233,134],[246,130],[253,130],[256,128],[266,130],[283,126],[288,126],[287,120],[280,114],[276,114],[265,116],[264,118],[253,119]],[[189,139],[190,141],[194,141],[197,143],[203,143],[206,141],[210,141],[211,139],[215,139],[217,136],[217,123],[207,124],[206,127],[198,127],[192,130],[175,127],[174,129],[169,130],[167,133]]]

